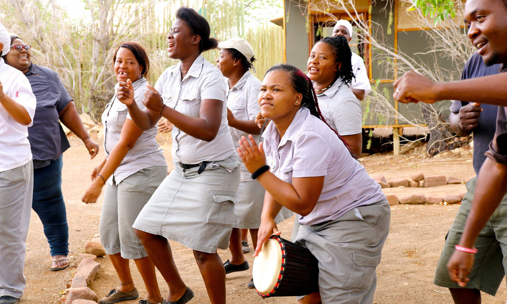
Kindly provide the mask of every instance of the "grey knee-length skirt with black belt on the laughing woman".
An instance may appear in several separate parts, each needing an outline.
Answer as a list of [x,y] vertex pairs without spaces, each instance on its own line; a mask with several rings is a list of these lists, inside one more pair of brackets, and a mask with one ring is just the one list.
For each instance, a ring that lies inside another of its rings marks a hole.
[[132,227],[201,252],[227,249],[234,224],[239,162],[232,156],[208,163],[201,174],[198,169],[174,164]]

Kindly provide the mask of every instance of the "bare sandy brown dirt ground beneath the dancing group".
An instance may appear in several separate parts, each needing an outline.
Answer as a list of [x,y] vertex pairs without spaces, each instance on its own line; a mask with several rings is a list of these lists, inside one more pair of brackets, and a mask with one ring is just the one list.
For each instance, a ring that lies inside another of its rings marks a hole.
[[[160,136],[168,163],[170,163],[170,139]],[[162,138],[163,137],[163,138]],[[99,140],[101,141],[101,140]],[[25,276],[27,286],[21,299],[22,304],[61,303],[65,296],[70,278],[76,272],[75,260],[83,252],[84,244],[98,233],[101,199],[93,205],[81,202],[81,196],[90,182],[92,169],[103,159],[103,151],[92,161],[86,154],[83,143],[76,137],[70,138],[71,148],[63,157],[63,194],[67,205],[67,219],[70,234],[69,259],[71,267],[64,271],[49,270],[51,259],[49,246],[43,234],[42,224],[37,214],[32,212],[27,240]],[[372,176],[384,174],[386,179],[394,177],[410,178],[414,172],[426,175],[455,176],[467,178],[474,174],[472,155],[469,150],[460,153],[445,153],[443,156],[427,159],[423,157],[422,147],[417,147],[399,157],[391,155],[373,155],[363,158],[365,166]],[[172,164],[170,165],[172,166]],[[460,194],[465,191],[463,184],[432,188],[388,188],[386,194],[398,196],[418,194]],[[103,195],[103,193],[102,193]],[[432,284],[433,273],[444,245],[444,236],[458,209],[457,205],[399,205],[391,208],[391,229],[384,246],[382,261],[377,268],[378,285],[374,303],[452,303],[447,289]],[[289,238],[294,218],[279,225],[282,237]],[[251,244],[251,242],[250,242]],[[171,242],[175,262],[195,297],[191,303],[207,303],[204,283],[194,261],[192,251],[176,242]],[[225,261],[230,253],[219,250]],[[250,270],[227,275],[228,303],[295,303],[294,297],[262,299],[255,290],[247,289],[251,278],[252,253],[246,254]],[[90,285],[99,298],[119,281],[111,261],[107,257],[99,258],[101,271]],[[131,270],[139,290],[140,297],[146,295],[142,280],[131,261]],[[158,274],[162,295],[168,292],[167,285]],[[507,298],[505,283],[499,288],[496,297],[483,295],[483,303],[503,303]],[[124,301],[125,304],[138,300]]]

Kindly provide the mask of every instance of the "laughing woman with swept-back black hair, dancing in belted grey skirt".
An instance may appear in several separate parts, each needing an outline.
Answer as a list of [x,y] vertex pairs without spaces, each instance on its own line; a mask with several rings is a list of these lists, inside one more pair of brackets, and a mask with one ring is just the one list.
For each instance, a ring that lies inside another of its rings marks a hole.
[[[172,129],[174,169],[141,210],[133,227],[169,286],[167,303],[194,296],[176,269],[167,239],[191,248],[213,304],[226,299],[225,270],[217,248],[227,249],[234,221],[239,161],[227,125],[222,73],[201,53],[216,48],[209,24],[195,10],[176,11],[167,36],[169,57],[180,62],[148,87],[141,110],[130,81],[120,82],[118,98],[142,130],[160,117]],[[123,96],[122,96],[123,94]]]

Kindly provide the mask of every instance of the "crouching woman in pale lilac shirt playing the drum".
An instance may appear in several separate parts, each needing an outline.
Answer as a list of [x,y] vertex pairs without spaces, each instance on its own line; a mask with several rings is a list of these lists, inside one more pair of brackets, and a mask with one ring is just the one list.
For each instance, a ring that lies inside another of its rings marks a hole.
[[242,137],[238,154],[266,189],[256,255],[282,206],[299,214],[295,242],[318,260],[319,292],[299,303],[372,303],[375,269],[389,232],[390,209],[380,185],[324,123],[311,81],[298,68],[268,70],[258,98],[273,121],[259,146]]

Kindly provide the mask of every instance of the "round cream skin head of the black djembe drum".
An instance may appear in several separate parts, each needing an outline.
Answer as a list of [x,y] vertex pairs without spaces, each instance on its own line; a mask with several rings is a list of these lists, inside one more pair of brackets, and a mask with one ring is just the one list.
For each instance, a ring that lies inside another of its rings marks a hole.
[[282,251],[277,240],[268,239],[261,252],[253,259],[253,284],[261,293],[270,292],[281,271]]

